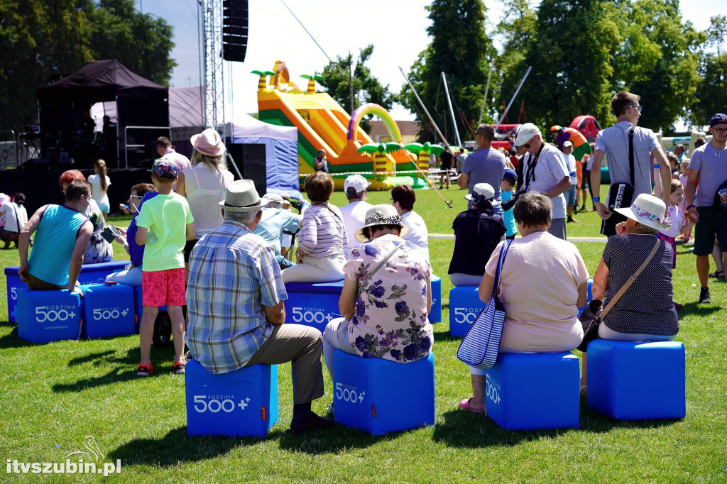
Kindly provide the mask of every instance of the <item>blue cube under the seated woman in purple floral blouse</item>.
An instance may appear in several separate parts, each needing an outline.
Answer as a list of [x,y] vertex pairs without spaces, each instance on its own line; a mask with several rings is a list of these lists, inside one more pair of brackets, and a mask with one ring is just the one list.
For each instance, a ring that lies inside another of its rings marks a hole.
[[434,424],[434,355],[411,363],[333,356],[334,420],[373,435]]

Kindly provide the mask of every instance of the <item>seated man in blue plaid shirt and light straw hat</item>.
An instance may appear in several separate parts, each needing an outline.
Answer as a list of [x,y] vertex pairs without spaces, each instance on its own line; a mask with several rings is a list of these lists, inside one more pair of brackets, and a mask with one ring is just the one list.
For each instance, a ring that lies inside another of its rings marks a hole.
[[322,338],[315,328],[285,323],[288,299],[273,249],[253,231],[265,199],[251,180],[228,186],[225,222],[204,235],[189,262],[186,342],[207,371],[228,373],[292,361],[290,432],[331,427],[310,403],[324,395]]

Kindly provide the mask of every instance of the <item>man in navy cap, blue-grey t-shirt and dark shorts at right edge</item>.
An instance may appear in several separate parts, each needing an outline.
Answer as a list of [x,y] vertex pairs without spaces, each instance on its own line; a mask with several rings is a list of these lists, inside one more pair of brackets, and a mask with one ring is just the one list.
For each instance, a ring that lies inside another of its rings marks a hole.
[[[715,235],[720,247],[727,247],[727,115],[717,113],[710,120],[712,141],[702,145],[691,155],[689,176],[684,188],[689,218],[697,222],[694,227],[694,255],[699,275],[699,302],[712,302],[709,281],[710,254]],[[696,180],[699,179],[699,187]],[[695,196],[696,187],[696,196]],[[722,252],[723,262],[727,252]]]

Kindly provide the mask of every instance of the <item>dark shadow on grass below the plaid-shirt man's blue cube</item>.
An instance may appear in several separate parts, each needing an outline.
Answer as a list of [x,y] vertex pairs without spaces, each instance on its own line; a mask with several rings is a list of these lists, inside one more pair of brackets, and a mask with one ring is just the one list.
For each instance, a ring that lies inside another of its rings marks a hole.
[[212,459],[229,453],[233,448],[274,440],[281,432],[270,432],[266,437],[189,437],[187,427],[170,430],[161,439],[134,439],[108,454],[124,465],[172,467],[181,462]]

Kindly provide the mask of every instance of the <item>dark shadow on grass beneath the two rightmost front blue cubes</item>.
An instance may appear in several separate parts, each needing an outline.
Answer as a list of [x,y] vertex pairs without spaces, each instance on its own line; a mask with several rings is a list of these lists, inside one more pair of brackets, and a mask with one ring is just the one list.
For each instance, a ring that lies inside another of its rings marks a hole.
[[521,442],[539,440],[542,437],[558,437],[566,432],[610,432],[611,429],[655,429],[678,424],[680,419],[661,420],[614,420],[598,414],[587,407],[586,399],[581,399],[581,417],[579,429],[539,429],[539,430],[506,430],[484,414],[473,414],[461,410],[453,410],[443,414],[444,423],[437,424],[433,440],[451,447],[481,448],[497,446],[513,446]]

